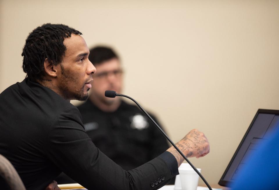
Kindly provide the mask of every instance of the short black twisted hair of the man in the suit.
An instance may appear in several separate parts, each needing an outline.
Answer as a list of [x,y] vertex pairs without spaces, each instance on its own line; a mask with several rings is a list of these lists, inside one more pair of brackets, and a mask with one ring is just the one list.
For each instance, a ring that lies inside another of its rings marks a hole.
[[26,77],[33,81],[42,80],[46,58],[53,65],[61,63],[66,51],[64,39],[71,37],[72,33],[82,35],[69,26],[51,23],[43,24],[29,33],[21,54]]

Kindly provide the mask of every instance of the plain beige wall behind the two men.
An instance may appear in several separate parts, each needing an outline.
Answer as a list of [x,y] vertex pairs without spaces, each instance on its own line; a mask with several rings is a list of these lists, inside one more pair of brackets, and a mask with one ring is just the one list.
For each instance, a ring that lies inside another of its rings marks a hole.
[[[64,23],[122,56],[124,92],[173,141],[203,131],[191,158],[217,184],[258,108],[279,109],[279,1],[0,1],[0,92],[22,81],[31,30]],[[200,184],[202,182],[200,181]]]

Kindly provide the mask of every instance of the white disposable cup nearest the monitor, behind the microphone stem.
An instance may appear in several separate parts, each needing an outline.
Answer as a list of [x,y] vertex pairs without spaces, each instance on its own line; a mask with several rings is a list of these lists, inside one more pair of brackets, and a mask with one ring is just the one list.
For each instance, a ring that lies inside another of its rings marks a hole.
[[[197,168],[199,172],[201,172],[200,168]],[[198,187],[198,174],[194,171],[194,169],[189,166],[183,166],[178,168],[180,175],[180,183],[181,190],[196,190]]]

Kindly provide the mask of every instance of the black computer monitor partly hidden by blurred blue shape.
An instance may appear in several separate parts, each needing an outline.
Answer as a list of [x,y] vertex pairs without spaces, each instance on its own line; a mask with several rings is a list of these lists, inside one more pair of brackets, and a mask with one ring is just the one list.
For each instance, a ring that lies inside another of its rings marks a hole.
[[228,187],[239,169],[249,162],[247,158],[257,149],[258,144],[269,139],[269,134],[278,128],[279,110],[259,109],[218,184]]

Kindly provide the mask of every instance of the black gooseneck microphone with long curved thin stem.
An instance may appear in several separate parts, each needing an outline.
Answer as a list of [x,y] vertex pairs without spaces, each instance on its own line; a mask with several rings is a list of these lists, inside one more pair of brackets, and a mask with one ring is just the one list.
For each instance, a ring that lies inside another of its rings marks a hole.
[[139,106],[139,108],[143,111],[143,113],[151,120],[151,122],[157,127],[157,129],[167,138],[167,140],[171,143],[172,146],[174,146],[174,148],[180,153],[180,155],[186,160],[186,162],[188,162],[188,164],[194,169],[194,171],[201,177],[201,179],[203,180],[203,182],[206,184],[206,186],[208,187],[208,189],[212,190],[212,188],[210,187],[210,185],[208,184],[208,182],[205,180],[205,178],[201,175],[201,173],[196,169],[196,167],[194,167],[194,165],[186,158],[186,156],[177,148],[177,146],[174,144],[174,142],[172,142],[172,140],[168,137],[168,135],[160,128],[160,126],[152,119],[152,117],[150,117],[150,115],[144,110],[144,108],[142,108],[142,106],[140,106],[139,103],[137,103],[137,101],[135,101],[133,98],[126,96],[124,94],[118,94],[115,91],[105,91],[105,97],[109,97],[109,98],[115,98],[115,96],[122,96],[122,97],[126,97],[130,100],[132,100],[133,102],[135,102],[137,104],[137,106]]

